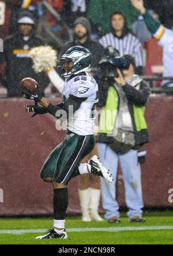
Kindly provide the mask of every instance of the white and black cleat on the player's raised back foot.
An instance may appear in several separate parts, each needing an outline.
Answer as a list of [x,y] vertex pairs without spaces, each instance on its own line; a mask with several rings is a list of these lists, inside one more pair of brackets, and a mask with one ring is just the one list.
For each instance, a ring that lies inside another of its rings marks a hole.
[[113,181],[110,170],[101,164],[97,155],[93,155],[93,157],[89,159],[88,164],[91,165],[91,173],[104,177],[104,179],[110,183]]

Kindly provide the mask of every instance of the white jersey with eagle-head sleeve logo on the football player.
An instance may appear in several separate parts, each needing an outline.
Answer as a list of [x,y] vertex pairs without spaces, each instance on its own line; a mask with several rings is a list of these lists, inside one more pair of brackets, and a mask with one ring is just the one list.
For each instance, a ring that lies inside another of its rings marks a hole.
[[98,86],[95,79],[88,73],[86,76],[79,75],[67,79],[62,91],[63,102],[70,95],[87,99],[81,103],[74,115],[70,116],[73,110],[69,109],[67,129],[78,135],[92,135],[96,118],[95,104],[98,102]]

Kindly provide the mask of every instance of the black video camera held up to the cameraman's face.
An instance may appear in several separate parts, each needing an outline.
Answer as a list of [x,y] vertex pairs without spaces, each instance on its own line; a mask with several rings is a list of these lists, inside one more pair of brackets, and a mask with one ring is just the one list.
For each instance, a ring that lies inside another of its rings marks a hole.
[[119,57],[119,51],[112,46],[108,46],[104,50],[103,57],[99,62],[99,76],[113,78],[118,76],[117,69],[128,69],[127,60]]

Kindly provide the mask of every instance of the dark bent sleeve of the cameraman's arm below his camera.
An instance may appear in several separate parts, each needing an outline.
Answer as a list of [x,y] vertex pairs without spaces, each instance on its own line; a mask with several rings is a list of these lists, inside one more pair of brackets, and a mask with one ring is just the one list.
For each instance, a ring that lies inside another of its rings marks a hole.
[[131,103],[134,103],[136,106],[146,105],[150,94],[150,90],[148,83],[146,83],[145,81],[141,82],[140,90],[137,90],[137,88],[133,86],[129,86],[129,84],[123,86],[123,90],[126,93],[127,99]]

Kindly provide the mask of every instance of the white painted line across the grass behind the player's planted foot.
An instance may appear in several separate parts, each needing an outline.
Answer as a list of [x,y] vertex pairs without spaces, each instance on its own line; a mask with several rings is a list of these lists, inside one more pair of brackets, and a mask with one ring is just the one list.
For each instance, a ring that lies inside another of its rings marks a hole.
[[[121,231],[147,231],[147,230],[173,230],[173,226],[148,227],[112,227],[112,228],[67,228],[67,232],[121,232]],[[45,233],[46,229],[0,229],[1,234],[22,235],[25,233]]]

